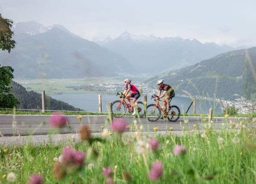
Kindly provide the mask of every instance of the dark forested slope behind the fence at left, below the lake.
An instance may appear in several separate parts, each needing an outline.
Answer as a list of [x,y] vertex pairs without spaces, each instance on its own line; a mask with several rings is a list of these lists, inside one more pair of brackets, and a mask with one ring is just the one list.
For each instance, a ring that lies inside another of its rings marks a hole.
[[[27,91],[22,85],[12,81],[11,93],[19,100],[20,105],[17,109],[42,109],[42,96],[34,91]],[[62,110],[62,111],[81,111],[68,103],[55,100],[49,96],[45,96],[45,109],[46,110]]]

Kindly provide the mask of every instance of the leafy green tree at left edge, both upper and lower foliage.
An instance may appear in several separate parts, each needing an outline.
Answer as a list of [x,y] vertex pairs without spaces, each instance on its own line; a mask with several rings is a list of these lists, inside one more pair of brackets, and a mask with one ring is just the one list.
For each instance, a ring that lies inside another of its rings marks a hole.
[[[0,48],[2,50],[8,50],[10,53],[11,49],[15,47],[16,42],[12,40],[13,32],[11,31],[12,20],[3,18],[0,14]],[[11,66],[0,65],[0,108],[13,108],[19,104],[19,101],[10,94],[11,87],[9,87],[12,81],[13,75]]]

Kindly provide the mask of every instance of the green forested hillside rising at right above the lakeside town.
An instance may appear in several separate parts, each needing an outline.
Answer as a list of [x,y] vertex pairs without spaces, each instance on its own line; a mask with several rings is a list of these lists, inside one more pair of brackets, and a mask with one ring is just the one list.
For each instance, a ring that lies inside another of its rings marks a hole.
[[159,75],[146,81],[156,87],[159,78],[178,94],[234,100],[256,99],[256,47],[230,51],[193,66]]

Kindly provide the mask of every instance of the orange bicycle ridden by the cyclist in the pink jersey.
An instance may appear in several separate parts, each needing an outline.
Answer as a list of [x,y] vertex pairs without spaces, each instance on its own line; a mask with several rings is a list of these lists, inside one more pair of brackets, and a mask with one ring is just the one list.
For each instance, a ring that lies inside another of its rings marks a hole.
[[[116,100],[112,102],[112,114],[116,118],[121,118],[123,115],[125,115],[126,110],[128,109],[129,113],[134,112],[133,105],[129,107],[129,103],[125,101],[125,99],[132,100],[131,98],[126,98],[123,93],[119,94],[117,93],[116,96],[118,96],[122,100]],[[137,102],[137,113],[140,118],[144,116],[144,104],[142,102]],[[137,113],[135,117],[137,118]]]

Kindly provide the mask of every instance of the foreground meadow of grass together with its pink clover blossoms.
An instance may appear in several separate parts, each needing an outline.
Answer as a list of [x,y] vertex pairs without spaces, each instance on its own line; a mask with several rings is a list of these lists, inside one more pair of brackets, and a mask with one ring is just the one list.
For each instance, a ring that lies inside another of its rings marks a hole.
[[[50,124],[67,126],[62,118],[52,118]],[[92,135],[84,125],[80,133],[57,145],[33,145],[29,141],[33,137],[28,136],[25,145],[0,145],[0,183],[31,184],[31,176],[37,174],[45,184],[253,184],[253,123],[234,123],[226,118],[216,131],[206,123],[205,130],[198,130],[197,124],[194,130],[183,127],[180,136],[171,130],[159,134],[157,128],[155,133],[142,136],[147,127],[139,122],[133,121],[130,127],[116,120],[111,126],[106,122],[100,136]],[[131,128],[135,133],[122,134]]]

